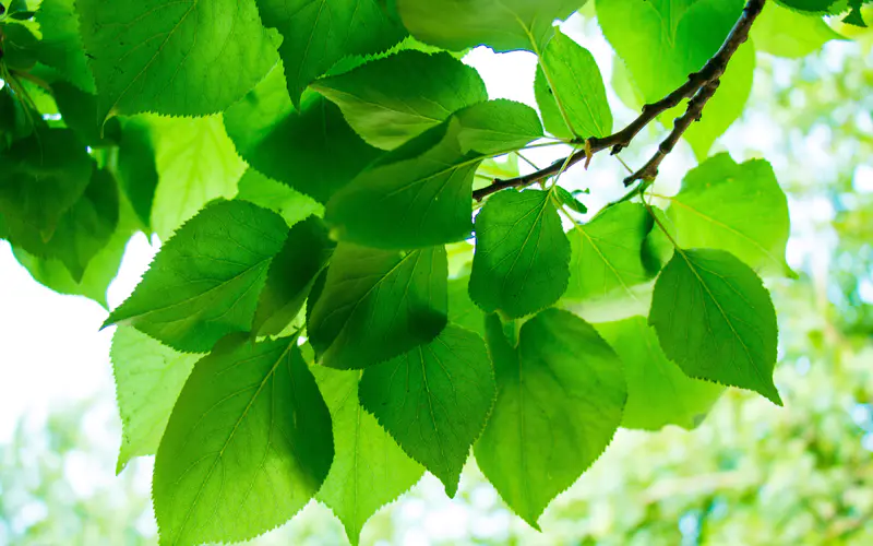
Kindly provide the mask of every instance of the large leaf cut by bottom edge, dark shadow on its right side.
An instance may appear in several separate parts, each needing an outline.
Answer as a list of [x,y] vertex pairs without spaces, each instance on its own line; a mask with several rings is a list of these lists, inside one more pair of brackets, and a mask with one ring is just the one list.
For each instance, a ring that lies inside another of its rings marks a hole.
[[296,337],[226,340],[198,361],[155,459],[162,545],[253,538],[319,490],[331,415]]

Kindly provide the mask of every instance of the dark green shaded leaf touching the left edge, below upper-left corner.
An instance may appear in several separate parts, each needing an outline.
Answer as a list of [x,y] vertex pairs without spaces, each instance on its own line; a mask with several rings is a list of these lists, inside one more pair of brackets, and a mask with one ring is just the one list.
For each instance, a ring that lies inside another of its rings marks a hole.
[[79,200],[93,170],[85,146],[69,129],[40,129],[0,151],[0,214],[51,238]]

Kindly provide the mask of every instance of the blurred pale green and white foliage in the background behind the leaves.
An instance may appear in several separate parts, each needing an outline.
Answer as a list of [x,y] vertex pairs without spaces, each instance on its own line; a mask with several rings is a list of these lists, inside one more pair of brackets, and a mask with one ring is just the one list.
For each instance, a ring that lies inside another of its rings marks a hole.
[[[760,55],[743,119],[722,139],[737,159],[766,155],[790,197],[800,280],[770,286],[786,407],[729,390],[693,431],[620,431],[547,510],[545,533],[470,466],[456,499],[426,477],[363,544],[873,544],[873,33],[837,29],[853,41]],[[151,461],[111,475],[111,401],[25,419],[0,444],[0,544],[156,543]],[[254,544],[347,543],[326,508],[304,514]]]

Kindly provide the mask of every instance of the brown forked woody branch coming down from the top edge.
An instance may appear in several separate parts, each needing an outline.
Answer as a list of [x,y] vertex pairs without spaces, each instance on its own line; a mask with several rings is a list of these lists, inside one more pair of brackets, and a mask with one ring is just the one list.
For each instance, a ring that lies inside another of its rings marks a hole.
[[[631,144],[631,141],[633,141],[643,128],[665,111],[679,106],[682,100],[689,98],[691,100],[689,102],[685,114],[675,119],[673,130],[667,139],[661,142],[660,146],[658,146],[658,151],[643,168],[627,177],[624,180],[624,185],[630,186],[636,180],[654,178],[658,173],[658,166],[661,161],[663,161],[663,157],[672,151],[673,146],[675,146],[687,128],[691,127],[694,121],[701,119],[703,109],[715,94],[719,80],[725,74],[725,70],[728,68],[731,57],[733,57],[737,49],[749,39],[749,31],[752,27],[752,23],[754,23],[755,19],[761,14],[765,2],[766,0],[749,0],[749,2],[746,2],[742,14],[737,20],[737,23],[733,25],[733,28],[731,28],[718,51],[706,61],[706,64],[704,64],[698,72],[690,74],[685,83],[657,103],[645,105],[642,114],[621,131],[612,133],[609,136],[603,136],[602,139],[588,139],[588,149],[591,155],[607,149],[611,149],[610,153],[613,155],[621,152]],[[476,201],[481,201],[486,197],[506,188],[524,188],[534,182],[546,180],[557,175],[562,169],[569,168],[585,159],[585,157],[586,151],[579,150],[536,173],[505,180],[495,178],[491,186],[474,191],[473,198]]]

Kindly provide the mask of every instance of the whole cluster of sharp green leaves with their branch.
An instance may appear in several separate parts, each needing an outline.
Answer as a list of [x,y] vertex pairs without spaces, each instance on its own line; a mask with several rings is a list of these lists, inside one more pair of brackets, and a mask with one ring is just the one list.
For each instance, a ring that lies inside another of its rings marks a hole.
[[[455,495],[470,458],[538,529],[619,427],[693,428],[726,388],[782,404],[765,280],[797,276],[788,201],[716,142],[756,50],[805,55],[862,2],[593,4],[611,82],[554,24],[578,1],[3,5],[0,237],[105,306],[131,235],[163,241],[105,323],[118,470],[156,454],[163,545],[246,541],[312,498],[357,543],[424,471]],[[536,108],[489,98],[478,46],[536,56]],[[643,131],[615,199],[562,185]],[[698,165],[657,193],[681,141]],[[567,153],[519,168],[542,147]]]

